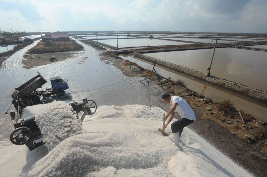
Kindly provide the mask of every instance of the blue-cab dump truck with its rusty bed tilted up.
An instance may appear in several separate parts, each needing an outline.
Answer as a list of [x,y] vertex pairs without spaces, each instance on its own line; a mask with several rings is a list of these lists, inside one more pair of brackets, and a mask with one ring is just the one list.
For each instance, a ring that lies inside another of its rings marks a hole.
[[18,88],[15,88],[15,92],[12,94],[12,97],[19,99],[21,107],[38,104],[40,97],[50,97],[52,95],[62,96],[65,94],[65,90],[69,89],[67,82],[61,79],[60,76],[56,76],[50,78],[51,88],[37,91],[38,88],[42,88],[47,82],[39,72],[37,73],[37,76],[31,78]]

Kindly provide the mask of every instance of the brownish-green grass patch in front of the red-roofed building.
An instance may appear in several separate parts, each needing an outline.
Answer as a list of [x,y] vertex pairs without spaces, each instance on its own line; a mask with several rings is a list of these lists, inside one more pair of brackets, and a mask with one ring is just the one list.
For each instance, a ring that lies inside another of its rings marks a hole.
[[53,52],[66,52],[66,51],[75,51],[82,50],[83,47],[80,44],[77,44],[76,41],[62,41],[62,42],[53,42],[45,41],[39,42],[35,47],[29,50],[29,53],[53,53]]

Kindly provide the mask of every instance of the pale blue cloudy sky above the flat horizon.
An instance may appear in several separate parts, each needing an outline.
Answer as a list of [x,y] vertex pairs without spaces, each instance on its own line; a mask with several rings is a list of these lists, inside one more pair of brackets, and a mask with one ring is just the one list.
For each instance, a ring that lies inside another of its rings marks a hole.
[[0,0],[10,31],[267,33],[267,0]]

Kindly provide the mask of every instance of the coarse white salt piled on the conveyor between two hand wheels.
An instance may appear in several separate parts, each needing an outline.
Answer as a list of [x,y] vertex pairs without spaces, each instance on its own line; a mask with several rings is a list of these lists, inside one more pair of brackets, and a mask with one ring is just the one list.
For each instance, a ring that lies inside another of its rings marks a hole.
[[82,125],[73,114],[72,107],[64,101],[42,105],[32,113],[50,151],[66,138],[83,133]]

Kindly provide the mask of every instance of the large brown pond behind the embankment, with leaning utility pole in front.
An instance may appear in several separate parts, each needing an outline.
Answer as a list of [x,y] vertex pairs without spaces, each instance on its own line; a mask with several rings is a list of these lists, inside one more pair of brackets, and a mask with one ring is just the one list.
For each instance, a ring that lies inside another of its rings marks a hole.
[[[177,65],[207,73],[213,49],[146,53]],[[211,75],[267,91],[267,53],[234,48],[215,50]]]

